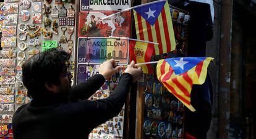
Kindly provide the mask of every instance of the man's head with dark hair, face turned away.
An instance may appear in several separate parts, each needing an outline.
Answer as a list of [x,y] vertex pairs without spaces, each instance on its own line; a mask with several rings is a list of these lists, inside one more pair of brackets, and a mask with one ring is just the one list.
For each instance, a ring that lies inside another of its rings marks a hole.
[[28,96],[40,98],[43,93],[69,93],[70,55],[64,50],[50,49],[31,57],[22,66],[23,84]]

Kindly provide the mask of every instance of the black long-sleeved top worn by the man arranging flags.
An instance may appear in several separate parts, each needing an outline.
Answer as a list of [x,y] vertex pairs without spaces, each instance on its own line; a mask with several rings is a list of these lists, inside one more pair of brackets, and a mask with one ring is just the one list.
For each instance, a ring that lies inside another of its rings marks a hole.
[[101,74],[71,89],[71,94],[47,94],[20,106],[12,119],[14,139],[88,138],[96,126],[119,114],[132,84],[124,73],[108,98],[88,101],[105,82]]

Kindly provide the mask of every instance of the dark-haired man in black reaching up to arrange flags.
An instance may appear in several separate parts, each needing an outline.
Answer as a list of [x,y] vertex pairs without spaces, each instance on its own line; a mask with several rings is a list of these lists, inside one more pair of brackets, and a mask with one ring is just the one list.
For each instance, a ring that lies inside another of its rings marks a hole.
[[23,84],[32,101],[14,114],[15,139],[88,138],[97,125],[119,114],[130,85],[142,73],[132,62],[108,98],[88,101],[121,66],[116,66],[113,59],[104,62],[100,74],[71,87],[68,60],[66,52],[51,49],[34,55],[22,66]]

